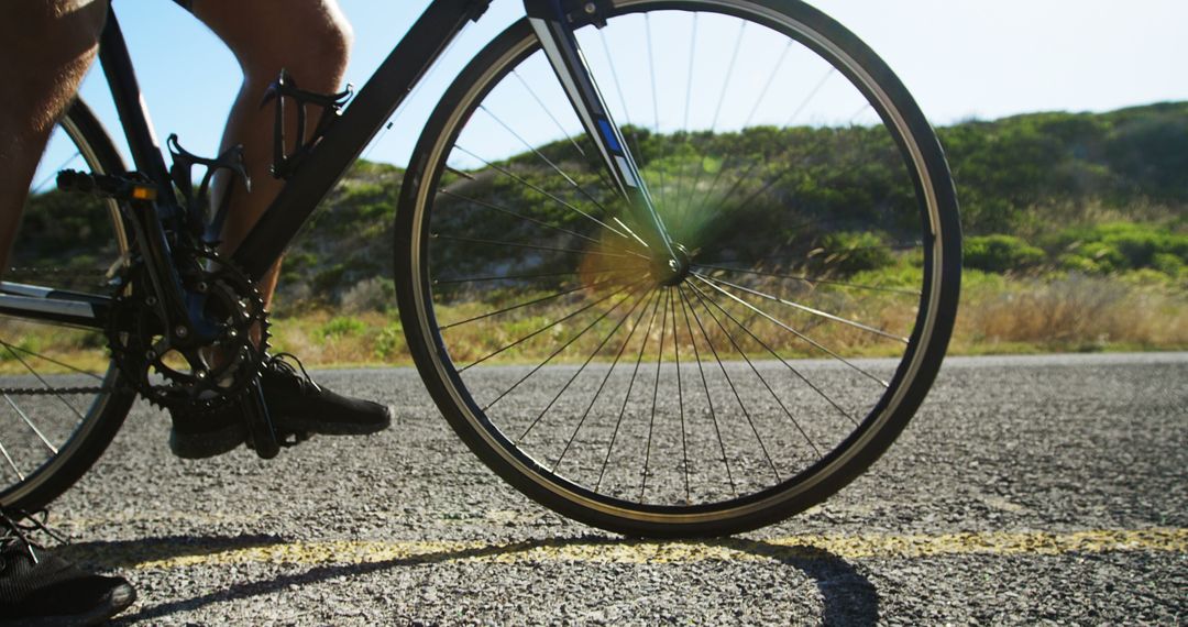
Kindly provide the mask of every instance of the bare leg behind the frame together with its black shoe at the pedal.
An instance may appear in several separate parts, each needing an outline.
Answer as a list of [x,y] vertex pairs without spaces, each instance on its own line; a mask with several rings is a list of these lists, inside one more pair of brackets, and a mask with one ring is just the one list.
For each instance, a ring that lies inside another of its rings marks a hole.
[[[230,252],[247,235],[268,203],[280,191],[272,178],[273,112],[260,101],[282,69],[289,70],[298,87],[310,91],[334,91],[342,81],[350,48],[350,26],[335,0],[195,0],[194,14],[217,34],[244,70],[244,84],[232,107],[223,133],[222,148],[240,144],[252,191],[235,185],[229,177],[215,182],[213,200],[229,203],[223,228],[223,247]],[[310,126],[320,112],[310,112]],[[296,120],[293,120],[296,124]],[[286,129],[295,137],[296,127]],[[291,148],[292,146],[290,146]],[[277,267],[260,280],[268,303],[276,289]],[[261,385],[273,423],[283,430],[327,435],[362,435],[385,429],[391,412],[381,405],[349,399],[312,385],[278,359],[270,360]],[[184,457],[206,457],[223,450],[202,437],[211,423],[195,423],[173,416],[173,451]],[[190,433],[196,433],[190,437]],[[225,441],[228,444],[233,439]]]

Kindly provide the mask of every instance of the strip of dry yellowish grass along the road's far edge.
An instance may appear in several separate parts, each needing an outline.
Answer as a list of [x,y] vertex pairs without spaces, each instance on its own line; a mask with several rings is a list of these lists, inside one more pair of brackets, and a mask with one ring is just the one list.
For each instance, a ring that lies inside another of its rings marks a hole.
[[[870,279],[866,279],[870,280]],[[805,286],[778,291],[783,298],[822,311],[843,314],[870,327],[906,335],[916,315],[915,299],[897,293],[855,293],[845,289]],[[702,286],[702,293],[710,290]],[[670,359],[675,340],[682,359],[700,352],[710,360],[771,359],[769,348],[782,357],[820,357],[824,353],[757,314],[753,309],[720,299],[721,309],[695,291],[682,302],[644,291],[619,293],[577,292],[548,306],[533,306],[492,316],[446,331],[450,354],[465,365],[499,352],[487,363],[539,363],[568,344],[550,363],[577,363],[592,354],[596,361],[614,359],[655,360],[664,341]],[[516,294],[514,300],[533,294]],[[607,297],[598,306],[551,325],[567,314]],[[854,327],[838,324],[810,312],[750,298],[762,309],[778,314],[788,327],[816,343],[847,356],[896,356],[903,344]],[[501,303],[460,302],[441,306],[442,323],[465,321]],[[613,309],[612,309],[613,308]],[[725,311],[722,311],[725,309]],[[612,310],[599,319],[602,312]],[[728,315],[727,315],[728,312]],[[630,315],[628,315],[630,314]],[[618,331],[614,327],[623,321]],[[594,324],[588,332],[587,325]],[[742,331],[740,325],[750,329]],[[545,329],[542,332],[536,332]],[[601,346],[604,338],[609,340]],[[517,341],[529,337],[519,343]],[[99,334],[53,327],[0,322],[0,374],[27,372],[23,360],[38,372],[67,372],[38,354],[83,369],[101,370],[105,343]],[[508,344],[513,348],[501,350]],[[304,312],[273,322],[272,348],[293,353],[309,366],[406,366],[411,363],[404,329],[394,311],[340,315]],[[969,272],[965,278],[961,309],[950,343],[950,354],[1041,353],[1086,350],[1188,349],[1188,286],[1152,274],[1125,277],[1010,278]],[[18,359],[18,355],[20,359]],[[617,357],[618,356],[618,357]]]

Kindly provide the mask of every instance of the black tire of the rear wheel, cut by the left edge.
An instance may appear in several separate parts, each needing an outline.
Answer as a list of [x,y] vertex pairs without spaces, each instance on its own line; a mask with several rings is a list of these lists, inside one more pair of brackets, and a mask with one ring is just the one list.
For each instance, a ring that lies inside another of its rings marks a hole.
[[[127,171],[124,159],[90,108],[76,99],[67,109],[64,122],[72,125],[78,141],[86,144],[103,173],[120,175]],[[43,463],[24,481],[0,492],[0,507],[6,511],[37,511],[70,489],[95,464],[132,408],[135,393],[120,382],[114,362],[108,367],[102,386],[108,392],[100,393],[80,424],[58,454]]]

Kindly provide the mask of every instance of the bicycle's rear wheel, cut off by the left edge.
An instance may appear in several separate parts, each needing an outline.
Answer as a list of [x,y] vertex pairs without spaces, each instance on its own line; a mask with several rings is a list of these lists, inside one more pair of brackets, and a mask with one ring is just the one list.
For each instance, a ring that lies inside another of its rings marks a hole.
[[[112,296],[128,234],[113,201],[55,189],[61,170],[125,171],[82,101],[58,124],[30,188],[0,291]],[[0,507],[32,511],[72,486],[103,452],[135,394],[120,385],[106,334],[0,316]]]

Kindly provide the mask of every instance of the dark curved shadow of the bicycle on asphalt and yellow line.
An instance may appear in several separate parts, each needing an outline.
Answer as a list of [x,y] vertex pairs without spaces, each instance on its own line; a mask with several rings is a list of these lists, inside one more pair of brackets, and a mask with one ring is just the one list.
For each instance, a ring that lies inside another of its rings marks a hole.
[[[70,560],[101,569],[153,568],[160,562],[160,568],[176,568],[191,563],[192,565],[214,564],[206,558],[232,551],[253,549],[283,547],[291,540],[276,536],[240,536],[240,537],[195,537],[172,536],[146,538],[141,540],[80,543],[58,549],[58,553]],[[158,604],[151,598],[141,598],[139,610],[134,614],[119,616],[114,625],[129,625],[138,621],[153,621],[202,607],[233,602],[253,596],[267,595],[290,587],[315,584],[340,577],[355,577],[386,570],[426,564],[447,564],[469,559],[489,560],[492,563],[533,559],[529,553],[580,555],[586,559],[608,560],[621,559],[623,551],[634,553],[640,550],[638,563],[650,563],[649,555],[663,553],[678,547],[677,557],[668,559],[671,563],[693,559],[723,559],[725,553],[738,552],[746,558],[765,558],[794,568],[809,577],[821,594],[822,619],[824,625],[874,625],[879,613],[879,595],[874,585],[859,572],[853,564],[841,557],[811,545],[771,544],[763,540],[745,538],[723,538],[712,540],[677,540],[672,543],[638,540],[624,538],[606,538],[598,536],[560,538],[546,540],[522,540],[501,544],[469,546],[463,549],[444,549],[416,553],[407,557],[381,559],[361,563],[333,563],[314,565],[303,572],[280,575],[270,580],[234,583],[227,588],[197,595],[191,598],[175,600]],[[694,557],[701,550],[709,550],[712,557]],[[615,556],[619,557],[615,557]],[[192,558],[192,562],[190,562]],[[636,560],[637,558],[632,558]],[[296,564],[299,565],[299,564]]]

